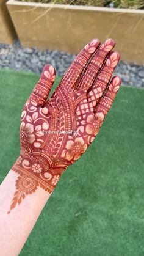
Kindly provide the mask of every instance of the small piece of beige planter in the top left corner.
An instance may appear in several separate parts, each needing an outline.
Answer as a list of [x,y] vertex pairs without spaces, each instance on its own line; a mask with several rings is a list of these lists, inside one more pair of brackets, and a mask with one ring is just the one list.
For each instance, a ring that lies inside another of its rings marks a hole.
[[0,43],[12,43],[16,37],[5,0],[0,0]]

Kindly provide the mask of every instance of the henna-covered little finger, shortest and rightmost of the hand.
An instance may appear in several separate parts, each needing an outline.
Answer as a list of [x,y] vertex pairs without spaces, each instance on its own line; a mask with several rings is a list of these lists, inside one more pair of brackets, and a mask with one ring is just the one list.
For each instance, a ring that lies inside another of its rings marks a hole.
[[121,78],[119,76],[114,76],[112,78],[112,81],[110,82],[110,85],[104,95],[103,98],[99,101],[98,105],[96,105],[95,108],[95,114],[96,113],[103,113],[104,117],[106,117],[107,112],[109,112],[109,109],[112,106],[113,100],[115,99],[115,96],[117,95],[118,89],[121,85]]

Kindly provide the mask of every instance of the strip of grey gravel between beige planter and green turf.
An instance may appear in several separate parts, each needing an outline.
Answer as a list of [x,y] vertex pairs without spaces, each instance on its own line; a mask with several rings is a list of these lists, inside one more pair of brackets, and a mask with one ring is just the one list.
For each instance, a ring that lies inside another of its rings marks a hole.
[[[56,68],[56,74],[63,76],[76,54],[47,49],[22,48],[16,40],[12,45],[0,44],[0,68],[16,71],[32,71],[41,73],[45,64]],[[115,75],[121,77],[123,85],[144,87],[144,65],[135,62],[128,64],[120,61],[115,69]]]

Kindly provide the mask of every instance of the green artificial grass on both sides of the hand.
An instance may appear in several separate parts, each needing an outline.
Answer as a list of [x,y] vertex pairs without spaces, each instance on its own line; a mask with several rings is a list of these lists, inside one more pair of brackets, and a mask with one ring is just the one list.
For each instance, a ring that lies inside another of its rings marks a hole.
[[[2,181],[19,155],[21,109],[38,75],[1,70],[0,76]],[[97,138],[62,175],[20,256],[144,255],[143,98],[143,89],[121,87]]]

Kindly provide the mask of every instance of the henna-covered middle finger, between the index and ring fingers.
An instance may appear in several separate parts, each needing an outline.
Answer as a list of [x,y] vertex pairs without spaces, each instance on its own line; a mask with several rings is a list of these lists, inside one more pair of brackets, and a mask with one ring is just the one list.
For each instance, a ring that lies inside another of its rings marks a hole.
[[107,55],[110,53],[114,46],[115,41],[113,39],[107,39],[106,42],[104,42],[100,46],[98,51],[96,51],[96,53],[88,63],[87,68],[82,75],[81,81],[79,82],[78,88],[80,90],[84,90],[84,92],[86,92],[88,88],[92,86],[96,76],[101,70],[101,67],[103,67]]

